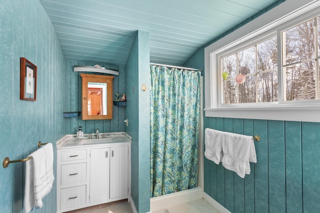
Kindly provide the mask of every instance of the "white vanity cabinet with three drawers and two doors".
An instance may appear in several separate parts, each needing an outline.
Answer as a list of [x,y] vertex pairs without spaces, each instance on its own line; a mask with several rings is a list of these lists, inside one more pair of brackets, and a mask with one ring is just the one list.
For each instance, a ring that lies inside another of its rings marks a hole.
[[131,143],[74,141],[57,146],[57,213],[128,199]]

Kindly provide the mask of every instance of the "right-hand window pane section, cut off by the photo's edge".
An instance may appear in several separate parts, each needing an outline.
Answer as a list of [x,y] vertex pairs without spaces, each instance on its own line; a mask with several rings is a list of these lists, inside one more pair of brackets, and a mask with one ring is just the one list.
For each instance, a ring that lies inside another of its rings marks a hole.
[[284,101],[319,99],[319,20],[317,16],[282,32]]

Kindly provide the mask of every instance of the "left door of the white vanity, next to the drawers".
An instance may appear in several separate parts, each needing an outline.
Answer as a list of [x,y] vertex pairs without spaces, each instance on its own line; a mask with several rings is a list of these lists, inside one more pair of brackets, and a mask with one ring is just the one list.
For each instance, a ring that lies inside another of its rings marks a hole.
[[110,148],[90,149],[90,203],[109,199]]

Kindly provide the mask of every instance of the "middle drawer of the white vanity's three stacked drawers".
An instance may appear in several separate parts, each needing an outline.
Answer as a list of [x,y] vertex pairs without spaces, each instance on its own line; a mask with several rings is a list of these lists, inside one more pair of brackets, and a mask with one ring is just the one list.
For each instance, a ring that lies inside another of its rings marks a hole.
[[61,166],[61,186],[86,182],[86,163]]

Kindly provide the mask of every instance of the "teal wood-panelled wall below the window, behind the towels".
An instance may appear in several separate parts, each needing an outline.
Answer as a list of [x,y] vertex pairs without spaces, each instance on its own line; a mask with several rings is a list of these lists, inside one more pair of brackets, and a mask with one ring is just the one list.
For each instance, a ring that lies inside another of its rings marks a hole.
[[250,163],[244,179],[221,164],[204,161],[209,168],[204,170],[206,194],[232,213],[320,212],[319,123],[206,119],[204,128],[261,138],[254,143],[257,163]]

